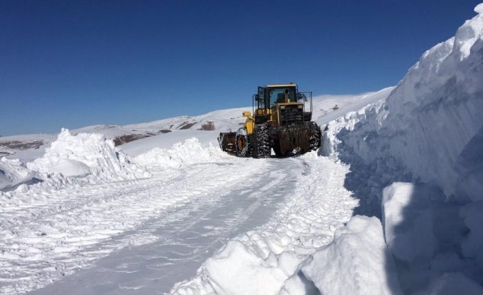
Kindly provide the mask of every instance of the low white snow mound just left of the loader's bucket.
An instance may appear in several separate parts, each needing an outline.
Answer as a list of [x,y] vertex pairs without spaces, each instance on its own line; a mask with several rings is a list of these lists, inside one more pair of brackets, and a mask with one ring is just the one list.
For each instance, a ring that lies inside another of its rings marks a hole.
[[171,149],[154,148],[135,157],[138,164],[149,168],[181,168],[183,166],[210,163],[215,159],[231,157],[210,144],[203,146],[197,138],[173,144]]

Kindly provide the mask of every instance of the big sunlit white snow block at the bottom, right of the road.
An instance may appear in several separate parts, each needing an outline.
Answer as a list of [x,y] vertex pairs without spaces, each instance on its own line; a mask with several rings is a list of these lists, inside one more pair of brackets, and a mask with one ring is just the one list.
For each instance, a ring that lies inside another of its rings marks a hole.
[[321,294],[402,294],[379,219],[354,216],[301,268]]

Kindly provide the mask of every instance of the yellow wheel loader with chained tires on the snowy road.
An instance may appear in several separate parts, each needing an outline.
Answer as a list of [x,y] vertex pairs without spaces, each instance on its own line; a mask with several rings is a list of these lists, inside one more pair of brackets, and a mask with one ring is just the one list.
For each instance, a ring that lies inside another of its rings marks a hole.
[[252,112],[236,132],[222,132],[223,151],[238,157],[270,157],[315,151],[321,146],[321,131],[312,121],[312,92],[299,92],[296,84],[258,87]]

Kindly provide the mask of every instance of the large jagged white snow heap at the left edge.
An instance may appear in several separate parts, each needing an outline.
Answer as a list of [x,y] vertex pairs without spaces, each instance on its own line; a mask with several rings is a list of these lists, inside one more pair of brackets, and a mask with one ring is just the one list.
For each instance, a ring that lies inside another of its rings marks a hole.
[[[101,134],[72,135],[62,129],[45,154],[23,164],[18,159],[0,159],[0,196],[23,194],[32,184],[38,191],[66,184],[99,183],[150,177],[140,166]],[[21,198],[21,195],[18,196]],[[11,201],[11,200],[10,200]]]

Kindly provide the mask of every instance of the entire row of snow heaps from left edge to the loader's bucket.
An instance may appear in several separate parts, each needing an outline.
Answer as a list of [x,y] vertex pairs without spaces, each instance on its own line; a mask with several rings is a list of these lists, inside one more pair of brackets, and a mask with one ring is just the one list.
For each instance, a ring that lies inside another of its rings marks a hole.
[[69,184],[141,179],[151,177],[151,170],[182,168],[223,158],[231,156],[211,144],[203,146],[197,138],[188,138],[171,149],[149,149],[132,159],[102,134],[72,134],[62,129],[45,154],[32,162],[0,158],[0,196],[11,198],[32,188],[56,190]]

